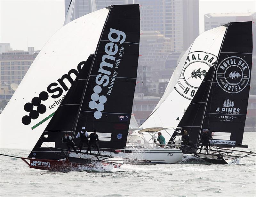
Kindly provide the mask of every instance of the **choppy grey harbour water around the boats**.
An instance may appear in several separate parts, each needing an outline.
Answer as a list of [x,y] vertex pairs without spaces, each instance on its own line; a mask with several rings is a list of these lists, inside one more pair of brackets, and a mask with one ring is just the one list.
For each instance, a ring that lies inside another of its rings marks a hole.
[[[243,144],[255,152],[256,132],[244,133]],[[21,157],[29,151],[1,153]],[[61,173],[0,156],[0,196],[256,196],[256,157],[241,159],[239,165],[183,161]]]

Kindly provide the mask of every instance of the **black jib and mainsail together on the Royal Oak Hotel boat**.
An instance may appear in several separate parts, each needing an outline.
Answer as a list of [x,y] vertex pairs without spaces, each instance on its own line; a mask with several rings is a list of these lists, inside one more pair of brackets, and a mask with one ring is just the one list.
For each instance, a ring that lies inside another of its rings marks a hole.
[[202,129],[208,128],[215,145],[241,145],[251,69],[252,22],[228,23],[214,70],[208,71],[188,106],[178,125],[183,128],[179,135],[187,130],[196,144]]

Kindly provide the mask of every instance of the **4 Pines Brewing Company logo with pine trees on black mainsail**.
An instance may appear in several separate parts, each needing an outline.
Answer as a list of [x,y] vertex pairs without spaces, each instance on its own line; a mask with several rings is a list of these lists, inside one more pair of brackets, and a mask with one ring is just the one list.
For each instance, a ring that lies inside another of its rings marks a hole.
[[217,107],[216,111],[220,116],[218,118],[222,122],[233,122],[236,117],[234,115],[240,113],[240,108],[235,107],[235,103],[232,100],[225,100],[223,103],[223,107]]

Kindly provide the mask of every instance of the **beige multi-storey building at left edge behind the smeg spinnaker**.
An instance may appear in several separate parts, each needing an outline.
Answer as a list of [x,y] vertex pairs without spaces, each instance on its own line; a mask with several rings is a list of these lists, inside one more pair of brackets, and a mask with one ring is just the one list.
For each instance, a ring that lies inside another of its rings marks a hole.
[[0,54],[0,100],[9,100],[12,97],[13,87],[16,85],[11,87],[11,84],[20,84],[36,58],[37,53],[32,51],[34,47],[28,48],[29,51],[8,50]]

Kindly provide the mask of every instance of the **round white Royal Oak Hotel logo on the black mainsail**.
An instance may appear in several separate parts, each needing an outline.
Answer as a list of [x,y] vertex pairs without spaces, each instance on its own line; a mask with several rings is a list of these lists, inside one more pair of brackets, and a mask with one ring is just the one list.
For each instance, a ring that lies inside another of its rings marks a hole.
[[217,68],[216,80],[219,86],[228,93],[242,91],[249,79],[248,64],[240,57],[228,57]]

